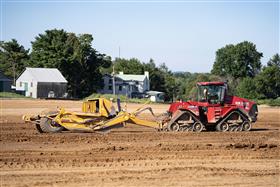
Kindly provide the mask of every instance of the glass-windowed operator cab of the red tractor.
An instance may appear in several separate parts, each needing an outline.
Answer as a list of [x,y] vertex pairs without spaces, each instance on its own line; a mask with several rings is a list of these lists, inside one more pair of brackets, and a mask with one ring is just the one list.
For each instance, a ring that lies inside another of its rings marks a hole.
[[198,82],[197,101],[209,104],[222,104],[227,90],[225,82]]

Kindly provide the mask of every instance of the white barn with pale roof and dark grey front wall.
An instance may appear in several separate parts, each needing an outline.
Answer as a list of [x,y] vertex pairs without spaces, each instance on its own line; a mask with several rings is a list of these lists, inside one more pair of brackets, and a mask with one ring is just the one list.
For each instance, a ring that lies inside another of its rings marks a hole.
[[64,97],[67,80],[56,68],[26,68],[16,80],[16,90],[33,98]]

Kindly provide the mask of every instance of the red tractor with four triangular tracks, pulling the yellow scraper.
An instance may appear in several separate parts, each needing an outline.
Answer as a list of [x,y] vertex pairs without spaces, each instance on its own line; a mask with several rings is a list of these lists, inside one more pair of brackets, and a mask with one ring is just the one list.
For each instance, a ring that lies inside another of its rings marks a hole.
[[255,102],[227,94],[225,82],[197,83],[197,101],[175,102],[170,105],[170,131],[249,131],[256,122]]

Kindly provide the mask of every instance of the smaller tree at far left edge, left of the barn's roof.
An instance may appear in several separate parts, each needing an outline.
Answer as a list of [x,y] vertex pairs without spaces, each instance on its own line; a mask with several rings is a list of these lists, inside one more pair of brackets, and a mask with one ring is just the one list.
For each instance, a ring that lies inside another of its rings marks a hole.
[[28,52],[29,50],[25,50],[15,39],[8,42],[0,41],[0,70],[6,76],[12,77],[14,84],[25,68],[25,63],[29,58]]

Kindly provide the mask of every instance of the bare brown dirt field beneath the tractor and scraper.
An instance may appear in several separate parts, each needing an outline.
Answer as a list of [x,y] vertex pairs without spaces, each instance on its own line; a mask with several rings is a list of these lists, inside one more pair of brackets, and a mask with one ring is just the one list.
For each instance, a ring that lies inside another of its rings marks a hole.
[[[251,132],[39,134],[22,114],[77,101],[0,101],[0,186],[280,186],[280,109],[260,107]],[[129,104],[128,109],[139,107]],[[153,105],[156,113],[168,105]]]

